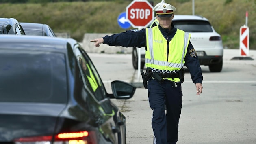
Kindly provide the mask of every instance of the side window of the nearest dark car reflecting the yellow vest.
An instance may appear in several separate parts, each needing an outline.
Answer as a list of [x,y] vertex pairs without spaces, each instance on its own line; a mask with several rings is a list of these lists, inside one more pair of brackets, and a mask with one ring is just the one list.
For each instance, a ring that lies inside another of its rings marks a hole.
[[104,100],[106,98],[106,91],[88,55],[83,49],[77,48],[76,57],[82,69],[86,87],[90,89],[98,101]]

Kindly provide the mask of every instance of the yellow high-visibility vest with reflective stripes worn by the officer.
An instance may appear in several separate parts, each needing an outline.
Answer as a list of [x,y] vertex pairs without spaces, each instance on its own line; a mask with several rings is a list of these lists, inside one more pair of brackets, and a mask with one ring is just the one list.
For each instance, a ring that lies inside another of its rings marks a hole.
[[[180,70],[185,64],[185,56],[191,34],[177,29],[176,34],[169,42],[169,54],[167,59],[167,40],[158,27],[146,28],[147,51],[146,67],[155,72],[172,72]],[[167,78],[180,82],[179,78]]]

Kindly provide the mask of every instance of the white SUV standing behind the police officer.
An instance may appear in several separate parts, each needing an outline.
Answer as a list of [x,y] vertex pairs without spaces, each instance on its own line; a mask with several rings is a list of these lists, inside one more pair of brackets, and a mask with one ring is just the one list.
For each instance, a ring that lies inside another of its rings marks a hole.
[[[197,52],[200,65],[209,66],[210,72],[221,72],[223,44],[220,34],[215,32],[208,19],[199,15],[174,15],[174,27],[191,33],[191,43]],[[145,49],[141,50],[141,69],[145,66]],[[136,47],[132,51],[133,68],[138,69]]]

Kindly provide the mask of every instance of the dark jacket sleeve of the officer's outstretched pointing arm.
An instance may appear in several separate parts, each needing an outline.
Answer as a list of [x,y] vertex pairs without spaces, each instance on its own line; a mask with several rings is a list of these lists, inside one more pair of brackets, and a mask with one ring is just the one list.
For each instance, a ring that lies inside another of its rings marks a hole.
[[146,44],[145,29],[128,30],[119,34],[103,37],[103,44],[122,47],[144,47]]

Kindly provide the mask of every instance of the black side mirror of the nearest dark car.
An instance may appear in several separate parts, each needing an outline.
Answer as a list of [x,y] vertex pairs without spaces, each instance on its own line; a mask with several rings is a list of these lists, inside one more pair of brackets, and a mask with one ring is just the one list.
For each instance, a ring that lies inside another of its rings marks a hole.
[[119,81],[119,80],[115,80],[115,81],[111,82],[111,88],[112,88],[113,96],[114,96],[111,98],[116,98],[116,99],[132,98],[132,96],[135,93],[135,89],[136,89],[136,87],[134,87],[133,85],[123,82],[123,81]]

